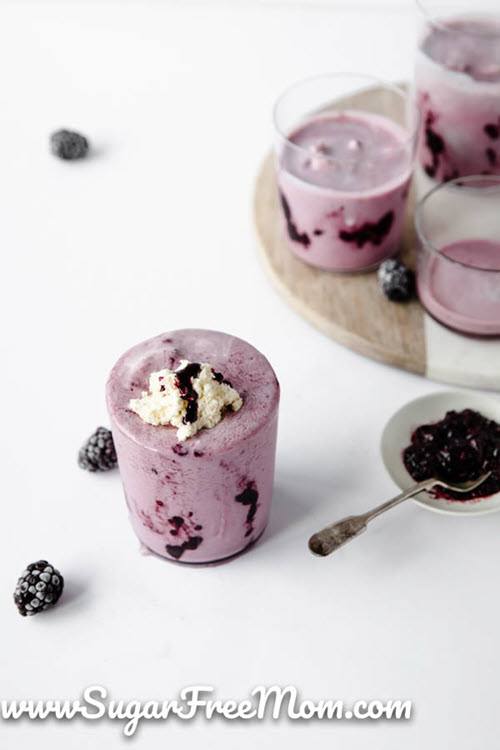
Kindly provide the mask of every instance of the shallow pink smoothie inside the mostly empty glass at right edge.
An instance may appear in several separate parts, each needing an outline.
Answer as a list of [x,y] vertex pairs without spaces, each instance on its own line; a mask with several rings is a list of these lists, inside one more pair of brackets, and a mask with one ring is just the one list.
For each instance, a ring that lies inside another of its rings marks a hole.
[[439,254],[423,248],[417,287],[424,307],[445,325],[466,333],[500,334],[500,242],[460,240]]

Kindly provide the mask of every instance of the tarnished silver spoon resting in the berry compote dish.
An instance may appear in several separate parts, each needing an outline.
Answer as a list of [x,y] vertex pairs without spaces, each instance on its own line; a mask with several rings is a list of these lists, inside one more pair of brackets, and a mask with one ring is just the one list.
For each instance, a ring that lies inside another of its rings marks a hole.
[[309,539],[309,549],[313,555],[326,557],[326,555],[330,555],[339,549],[339,547],[342,547],[347,542],[350,542],[351,539],[366,531],[366,527],[373,518],[380,516],[386,510],[394,508],[410,497],[418,495],[419,492],[430,490],[436,484],[455,492],[470,492],[488,479],[490,474],[491,471],[488,471],[487,474],[483,474],[479,479],[474,479],[472,482],[460,482],[459,484],[450,484],[449,482],[443,482],[441,479],[426,479],[424,482],[415,484],[409,490],[406,490],[406,492],[396,495],[392,500],[387,500],[382,505],[377,505],[376,508],[369,510],[367,513],[362,513],[359,516],[347,516],[347,518],[343,518],[341,521],[325,526],[324,529],[313,534]]

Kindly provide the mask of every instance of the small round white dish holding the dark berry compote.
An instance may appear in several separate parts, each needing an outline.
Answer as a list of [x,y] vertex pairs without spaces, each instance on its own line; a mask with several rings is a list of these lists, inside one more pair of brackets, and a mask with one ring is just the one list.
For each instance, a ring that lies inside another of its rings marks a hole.
[[[405,404],[385,426],[380,446],[385,468],[402,490],[407,490],[415,484],[415,480],[406,471],[402,456],[403,450],[411,442],[414,430],[429,422],[439,422],[446,412],[452,409],[473,409],[489,419],[500,422],[500,398],[478,393],[444,391],[431,393]],[[477,516],[500,510],[500,492],[489,497],[462,501],[435,498],[427,492],[421,492],[414,500],[424,508],[437,513],[460,516]]]

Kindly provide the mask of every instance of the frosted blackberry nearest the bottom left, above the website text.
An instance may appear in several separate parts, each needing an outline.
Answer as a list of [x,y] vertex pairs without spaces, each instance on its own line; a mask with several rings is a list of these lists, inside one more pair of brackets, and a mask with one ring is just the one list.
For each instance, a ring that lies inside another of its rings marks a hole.
[[62,594],[64,579],[47,560],[28,565],[14,591],[14,602],[23,617],[53,607]]

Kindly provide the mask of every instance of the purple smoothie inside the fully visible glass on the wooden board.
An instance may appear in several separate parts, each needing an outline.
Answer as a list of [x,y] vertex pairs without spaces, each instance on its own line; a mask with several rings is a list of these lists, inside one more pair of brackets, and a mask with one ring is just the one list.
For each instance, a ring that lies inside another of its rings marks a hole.
[[412,166],[409,133],[357,110],[316,116],[278,153],[290,249],[334,271],[378,265],[400,245]]

